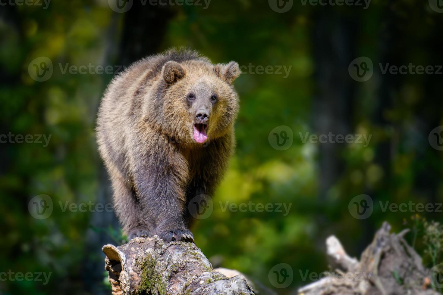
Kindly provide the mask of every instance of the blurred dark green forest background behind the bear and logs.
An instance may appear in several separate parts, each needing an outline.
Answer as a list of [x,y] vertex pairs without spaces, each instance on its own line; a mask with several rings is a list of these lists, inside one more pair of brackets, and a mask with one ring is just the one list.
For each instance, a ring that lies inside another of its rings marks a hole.
[[[427,1],[373,0],[367,9],[294,1],[284,13],[272,9],[272,0],[212,0],[208,6],[133,0],[124,13],[107,0],[53,0],[46,9],[39,2],[0,6],[0,134],[51,134],[47,146],[0,144],[0,272],[52,274],[46,285],[2,280],[1,294],[110,294],[101,246],[123,242],[114,213],[63,212],[58,204],[111,203],[94,127],[114,73],[63,73],[59,64],[118,70],[171,46],[189,46],[214,63],[291,66],[288,77],[245,70],[235,82],[241,98],[236,153],[213,196],[214,212],[192,229],[214,267],[237,269],[277,294],[294,294],[309,283],[300,271],[328,269],[328,235],[358,257],[384,220],[395,231],[415,228],[408,241],[415,240],[428,267],[435,263],[426,251],[423,218],[441,222],[442,213],[414,218],[411,210],[384,212],[378,205],[443,202],[443,151],[428,141],[443,125],[442,71],[394,75],[378,66],[443,65],[443,13]],[[374,67],[365,82],[348,73],[361,56]],[[38,57],[52,61],[46,81],[28,71]],[[268,140],[279,126],[293,132],[285,150]],[[368,146],[322,144],[303,142],[300,132],[372,138]],[[51,216],[41,220],[28,211],[40,194],[54,203]],[[361,194],[374,206],[360,220],[348,205]],[[219,205],[249,200],[292,205],[287,216],[223,212]],[[268,280],[280,263],[294,272],[285,288]]]

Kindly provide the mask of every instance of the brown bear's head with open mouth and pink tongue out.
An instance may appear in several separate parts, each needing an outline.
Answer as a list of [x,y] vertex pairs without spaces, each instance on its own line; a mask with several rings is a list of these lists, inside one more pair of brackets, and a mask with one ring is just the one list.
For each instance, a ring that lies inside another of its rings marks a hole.
[[[232,131],[239,109],[237,62],[168,61],[161,71],[163,130],[177,142],[202,145]],[[165,126],[166,125],[166,126]]]

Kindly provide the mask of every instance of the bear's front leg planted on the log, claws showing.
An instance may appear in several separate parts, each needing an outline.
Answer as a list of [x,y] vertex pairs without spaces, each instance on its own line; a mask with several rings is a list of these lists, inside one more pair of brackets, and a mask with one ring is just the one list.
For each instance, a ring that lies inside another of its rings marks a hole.
[[[140,157],[140,158],[139,158]],[[162,149],[134,157],[134,183],[143,219],[165,242],[193,241],[183,214],[186,206],[187,162],[167,142]]]

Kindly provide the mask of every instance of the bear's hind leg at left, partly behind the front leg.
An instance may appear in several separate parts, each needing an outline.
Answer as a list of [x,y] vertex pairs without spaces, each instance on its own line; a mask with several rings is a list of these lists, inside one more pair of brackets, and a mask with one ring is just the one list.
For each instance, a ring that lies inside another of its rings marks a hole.
[[128,235],[128,240],[136,237],[149,237],[151,227],[143,221],[136,196],[129,184],[123,178],[111,178],[114,192],[114,210],[120,221],[123,231]]

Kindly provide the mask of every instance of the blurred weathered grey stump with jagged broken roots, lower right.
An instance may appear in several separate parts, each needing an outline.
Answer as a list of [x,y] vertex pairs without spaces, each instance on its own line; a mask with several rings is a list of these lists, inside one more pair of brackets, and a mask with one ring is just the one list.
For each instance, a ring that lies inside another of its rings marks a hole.
[[334,236],[326,240],[329,276],[299,288],[299,295],[439,295],[431,289],[429,271],[400,234],[384,222],[360,261],[349,257]]

